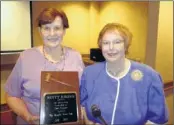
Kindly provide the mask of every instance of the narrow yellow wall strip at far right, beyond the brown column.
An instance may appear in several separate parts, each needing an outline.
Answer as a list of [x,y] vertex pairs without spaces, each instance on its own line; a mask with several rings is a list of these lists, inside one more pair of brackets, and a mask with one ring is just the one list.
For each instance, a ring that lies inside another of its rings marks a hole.
[[164,81],[173,80],[173,2],[161,1],[155,69]]

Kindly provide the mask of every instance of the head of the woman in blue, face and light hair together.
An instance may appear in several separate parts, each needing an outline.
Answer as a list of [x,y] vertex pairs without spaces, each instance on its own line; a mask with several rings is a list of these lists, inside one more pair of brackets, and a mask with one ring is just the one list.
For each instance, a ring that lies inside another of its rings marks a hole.
[[108,62],[124,59],[131,41],[132,33],[120,23],[106,24],[98,36],[98,46]]

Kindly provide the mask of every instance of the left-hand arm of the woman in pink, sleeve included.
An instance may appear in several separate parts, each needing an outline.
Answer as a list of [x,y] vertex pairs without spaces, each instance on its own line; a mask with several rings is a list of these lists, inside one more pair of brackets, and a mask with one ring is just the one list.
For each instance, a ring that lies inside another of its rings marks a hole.
[[20,55],[5,84],[5,96],[7,104],[12,111],[21,116],[25,121],[30,122],[36,118],[32,117],[24,101],[21,99],[23,93],[22,83],[22,60]]

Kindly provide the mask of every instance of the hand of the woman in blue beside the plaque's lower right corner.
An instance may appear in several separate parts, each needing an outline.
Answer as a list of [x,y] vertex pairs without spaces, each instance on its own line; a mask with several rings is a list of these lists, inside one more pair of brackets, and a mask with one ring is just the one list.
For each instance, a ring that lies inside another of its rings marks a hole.
[[94,123],[92,121],[90,121],[86,115],[86,110],[85,107],[81,107],[81,111],[82,111],[82,119],[85,125],[101,125],[99,123]]

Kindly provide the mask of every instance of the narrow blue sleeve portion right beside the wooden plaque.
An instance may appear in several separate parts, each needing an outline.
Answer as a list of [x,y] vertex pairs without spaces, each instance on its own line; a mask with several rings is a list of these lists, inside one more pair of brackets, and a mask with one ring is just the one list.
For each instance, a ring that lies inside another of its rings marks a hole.
[[84,72],[82,74],[81,84],[80,84],[80,103],[82,106],[85,106],[87,98],[88,98],[88,93],[86,89],[86,80],[85,80],[85,72]]

